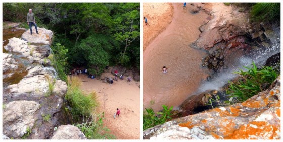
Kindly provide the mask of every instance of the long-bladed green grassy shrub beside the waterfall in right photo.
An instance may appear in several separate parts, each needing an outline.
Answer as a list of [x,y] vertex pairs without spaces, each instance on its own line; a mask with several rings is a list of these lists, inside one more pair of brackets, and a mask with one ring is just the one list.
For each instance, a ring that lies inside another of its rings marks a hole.
[[246,101],[259,92],[266,90],[278,77],[278,73],[271,67],[263,66],[258,69],[254,62],[252,65],[252,67],[243,66],[247,71],[240,69],[234,72],[234,74],[240,75],[237,82],[232,83],[229,81],[227,94],[230,97],[236,97],[240,102]]

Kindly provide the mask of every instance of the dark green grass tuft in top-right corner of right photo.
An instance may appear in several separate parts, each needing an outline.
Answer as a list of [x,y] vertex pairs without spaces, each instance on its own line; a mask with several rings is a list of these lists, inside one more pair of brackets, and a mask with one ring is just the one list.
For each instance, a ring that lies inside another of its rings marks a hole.
[[272,21],[280,18],[280,3],[257,3],[252,7],[252,20]]

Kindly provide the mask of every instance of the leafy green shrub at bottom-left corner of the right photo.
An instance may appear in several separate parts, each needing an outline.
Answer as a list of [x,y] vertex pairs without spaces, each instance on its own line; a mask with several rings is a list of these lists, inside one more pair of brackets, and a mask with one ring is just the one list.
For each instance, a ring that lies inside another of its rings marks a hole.
[[173,109],[173,106],[171,106],[168,109],[168,106],[162,105],[163,110],[162,112],[155,113],[153,109],[146,108],[147,114],[143,115],[143,130],[146,130],[147,128],[154,127],[159,124],[165,123],[167,120],[172,119],[170,116],[172,115],[170,112]]

